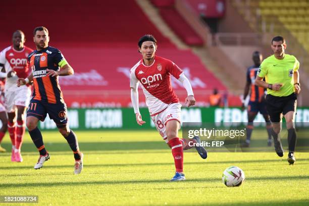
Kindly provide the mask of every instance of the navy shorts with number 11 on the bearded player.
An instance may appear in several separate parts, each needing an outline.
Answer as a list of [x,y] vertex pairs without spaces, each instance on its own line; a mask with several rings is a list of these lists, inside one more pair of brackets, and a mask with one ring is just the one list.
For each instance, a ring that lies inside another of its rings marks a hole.
[[46,116],[54,120],[58,128],[65,127],[68,123],[66,104],[50,104],[36,99],[31,99],[27,110],[27,117],[33,116],[44,121]]

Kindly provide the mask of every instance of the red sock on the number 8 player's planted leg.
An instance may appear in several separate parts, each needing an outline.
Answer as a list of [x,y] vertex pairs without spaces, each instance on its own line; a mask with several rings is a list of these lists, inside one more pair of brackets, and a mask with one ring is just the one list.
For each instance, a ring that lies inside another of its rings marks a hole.
[[169,145],[172,148],[176,172],[183,172],[183,147],[181,141],[178,137],[175,137],[169,141]]

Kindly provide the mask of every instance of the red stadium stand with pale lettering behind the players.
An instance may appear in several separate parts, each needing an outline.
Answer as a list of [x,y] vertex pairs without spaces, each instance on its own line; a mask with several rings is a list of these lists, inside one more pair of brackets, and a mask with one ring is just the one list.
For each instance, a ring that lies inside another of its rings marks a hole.
[[[129,106],[129,70],[141,58],[137,41],[147,33],[157,38],[158,55],[170,58],[186,72],[201,105],[207,105],[214,87],[222,91],[227,89],[190,49],[177,49],[135,1],[121,1],[121,7],[118,1],[69,0],[59,4],[20,1],[18,8],[28,12],[11,15],[8,11],[14,4],[8,1],[0,9],[0,17],[10,19],[3,22],[6,29],[0,31],[0,47],[8,46],[13,31],[21,29],[26,34],[26,45],[34,48],[34,27],[47,27],[50,45],[59,48],[75,70],[73,76],[60,77],[69,107]],[[177,81],[173,83],[183,101],[184,88]],[[140,100],[144,100],[142,92]],[[233,105],[233,101],[231,103]]]

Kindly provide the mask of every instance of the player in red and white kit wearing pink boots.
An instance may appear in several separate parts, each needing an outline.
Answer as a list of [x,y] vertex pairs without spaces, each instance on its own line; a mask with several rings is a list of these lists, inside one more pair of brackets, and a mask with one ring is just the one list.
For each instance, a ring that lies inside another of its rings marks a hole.
[[[21,146],[26,129],[24,116],[30,101],[31,86],[27,84],[24,87],[17,87],[16,80],[19,77],[26,78],[31,72],[27,58],[33,50],[24,45],[25,35],[21,30],[13,33],[12,43],[13,45],[0,53],[0,67],[2,67],[0,78],[6,79],[4,106],[8,114],[7,127],[12,142],[11,161],[23,162]],[[4,119],[1,119],[4,123]],[[3,136],[2,131],[0,142]]]

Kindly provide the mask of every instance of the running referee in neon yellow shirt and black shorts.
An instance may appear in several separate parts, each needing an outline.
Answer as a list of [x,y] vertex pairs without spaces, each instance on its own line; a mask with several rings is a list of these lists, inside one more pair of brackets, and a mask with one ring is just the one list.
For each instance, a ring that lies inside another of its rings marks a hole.
[[282,36],[272,39],[274,55],[262,62],[255,79],[255,85],[267,88],[266,108],[273,124],[272,135],[279,157],[283,157],[283,148],[279,137],[282,128],[282,115],[285,118],[289,144],[287,161],[291,165],[295,162],[296,131],[294,121],[297,105],[296,94],[300,92],[299,62],[294,56],[285,54],[285,49],[286,43]]

